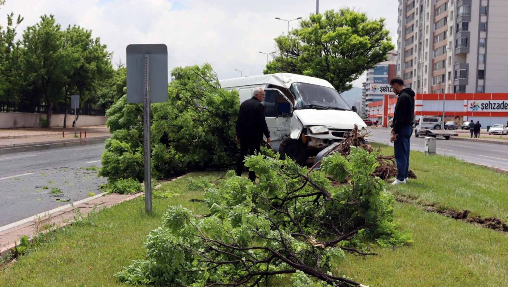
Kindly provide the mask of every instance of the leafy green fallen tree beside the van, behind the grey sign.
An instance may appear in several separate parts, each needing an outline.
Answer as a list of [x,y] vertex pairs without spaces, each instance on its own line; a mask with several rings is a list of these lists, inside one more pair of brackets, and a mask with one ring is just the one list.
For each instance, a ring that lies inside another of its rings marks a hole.
[[[238,152],[237,91],[220,88],[210,65],[175,68],[168,101],[151,106],[152,176],[171,177],[203,168],[224,168]],[[106,113],[112,137],[100,175],[143,180],[143,105],[124,95]]]

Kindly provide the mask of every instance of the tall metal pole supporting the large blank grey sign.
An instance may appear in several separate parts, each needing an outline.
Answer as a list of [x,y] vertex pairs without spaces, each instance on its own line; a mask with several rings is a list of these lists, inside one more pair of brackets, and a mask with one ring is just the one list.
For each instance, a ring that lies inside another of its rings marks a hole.
[[150,151],[150,54],[145,54],[144,65],[144,164],[145,164],[145,211],[152,211],[152,176],[151,176],[151,151]]

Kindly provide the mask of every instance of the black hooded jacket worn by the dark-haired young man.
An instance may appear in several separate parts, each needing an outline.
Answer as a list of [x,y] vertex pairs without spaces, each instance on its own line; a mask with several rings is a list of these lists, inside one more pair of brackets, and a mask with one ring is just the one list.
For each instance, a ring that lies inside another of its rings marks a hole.
[[393,112],[392,127],[395,134],[398,134],[402,127],[412,125],[415,122],[415,92],[410,89],[403,89],[399,93],[399,99],[395,104]]

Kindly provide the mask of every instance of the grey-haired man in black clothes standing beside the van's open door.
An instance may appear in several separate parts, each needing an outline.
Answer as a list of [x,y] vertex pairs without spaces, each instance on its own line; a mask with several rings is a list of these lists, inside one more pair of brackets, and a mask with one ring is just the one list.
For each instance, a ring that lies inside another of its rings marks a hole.
[[[240,142],[240,155],[236,162],[236,175],[241,176],[244,159],[247,155],[259,152],[263,135],[270,142],[270,131],[266,124],[265,107],[261,102],[265,99],[265,91],[261,87],[252,90],[252,98],[240,105],[240,113],[236,121],[236,140]],[[249,179],[256,181],[256,173],[249,171]]]

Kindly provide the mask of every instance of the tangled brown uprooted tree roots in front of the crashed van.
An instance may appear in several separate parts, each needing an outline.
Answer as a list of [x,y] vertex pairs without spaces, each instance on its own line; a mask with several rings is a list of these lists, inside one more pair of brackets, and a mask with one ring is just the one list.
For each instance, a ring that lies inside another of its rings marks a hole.
[[[351,152],[351,146],[361,147],[367,150],[368,152],[373,152],[374,148],[370,144],[368,144],[367,141],[365,140],[368,137],[369,137],[368,133],[366,135],[361,135],[358,130],[358,126],[355,125],[350,135],[345,139],[343,139],[339,145],[330,150],[325,155],[325,157],[334,152],[339,152],[341,155],[347,156]],[[397,171],[397,163],[395,162],[395,155],[389,156],[382,155],[380,154],[380,151],[381,151],[380,149],[377,150],[377,152],[379,152],[379,155],[377,156],[377,162],[379,163],[379,166],[375,169],[373,175],[383,180],[389,180],[391,178],[396,177],[398,171]],[[313,170],[320,163],[321,161],[315,163],[314,166],[310,168],[310,170]],[[418,178],[417,175],[412,170],[409,170],[408,177],[411,179]],[[338,185],[339,183],[332,181],[332,184]]]

